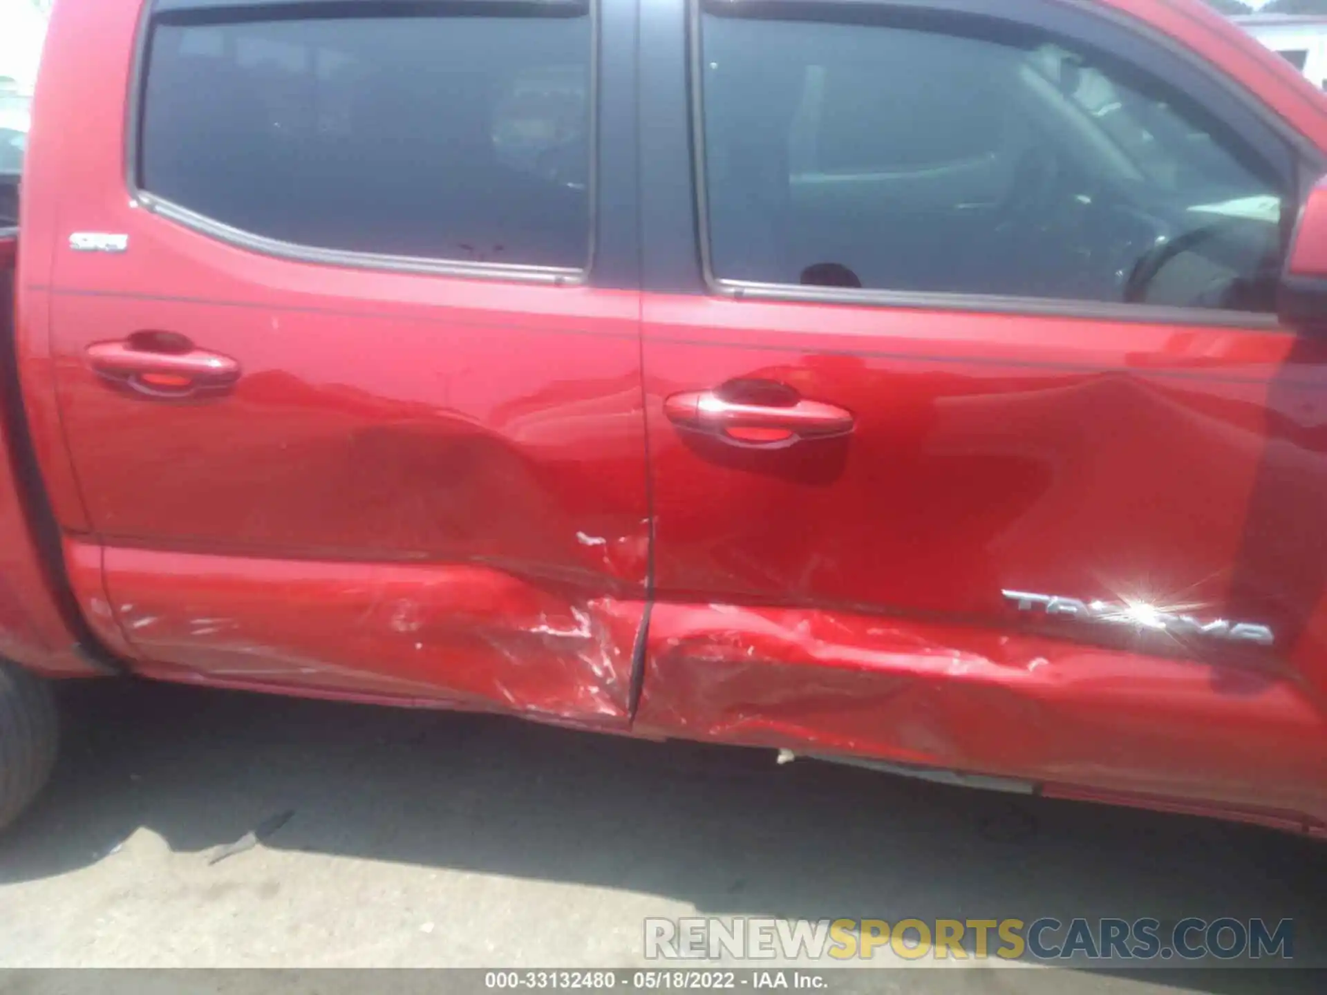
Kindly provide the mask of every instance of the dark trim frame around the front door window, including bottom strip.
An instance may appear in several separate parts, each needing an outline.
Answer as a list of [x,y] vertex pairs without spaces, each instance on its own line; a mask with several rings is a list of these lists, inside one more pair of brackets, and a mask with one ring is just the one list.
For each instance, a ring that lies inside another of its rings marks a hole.
[[[840,288],[840,287],[805,287],[800,284],[763,283],[756,280],[733,280],[721,277],[714,272],[710,248],[710,199],[706,176],[706,137],[705,137],[705,60],[702,50],[702,15],[707,3],[714,0],[685,0],[686,3],[686,31],[687,31],[687,84],[691,134],[691,182],[694,187],[694,204],[697,211],[697,239],[701,257],[701,273],[705,285],[714,296],[727,300],[743,301],[788,301],[802,304],[831,304],[856,305],[890,309],[914,310],[945,310],[955,313],[990,313],[990,314],[1027,314],[1035,317],[1066,317],[1084,318],[1128,324],[1166,324],[1184,326],[1218,326],[1249,330],[1289,332],[1282,325],[1275,313],[1222,310],[1213,308],[1184,308],[1176,305],[1149,305],[1125,304],[1117,301],[1092,301],[1079,298],[1056,297],[1020,297],[1013,295],[977,295],[961,292],[920,292],[920,291],[893,291],[871,288]],[[812,0],[824,3],[827,8],[848,4],[867,3],[872,7],[917,9],[916,0]],[[762,5],[776,7],[779,0],[756,0]],[[1259,119],[1259,122],[1285,141],[1287,151],[1294,157],[1294,187],[1292,194],[1303,202],[1307,191],[1304,188],[1304,175],[1314,172],[1318,175],[1327,171],[1322,153],[1311,146],[1296,130],[1281,121],[1269,107],[1258,101],[1253,94],[1227,80],[1218,69],[1209,65],[1193,52],[1176,44],[1173,38],[1158,33],[1152,25],[1139,21],[1135,17],[1115,11],[1103,11],[1099,5],[1085,4],[1082,0],[1060,0],[1082,15],[1105,20],[1120,28],[1145,37],[1151,44],[1157,45],[1180,58],[1194,72],[1201,73],[1209,81],[1218,85],[1223,92],[1234,96],[1239,103]],[[945,9],[962,12],[962,8],[947,7]],[[722,16],[722,15],[721,15]],[[1036,27],[1036,21],[1023,16],[1010,15],[1003,11],[994,15],[982,15],[1013,24],[1030,24]],[[1107,50],[1117,46],[1104,45]],[[1119,53],[1116,53],[1119,56]],[[1127,60],[1136,62],[1136,60]],[[1306,168],[1307,167],[1307,168]],[[1279,170],[1278,170],[1279,172]],[[1298,206],[1296,206],[1298,211]],[[1287,226],[1282,223],[1282,228]]]

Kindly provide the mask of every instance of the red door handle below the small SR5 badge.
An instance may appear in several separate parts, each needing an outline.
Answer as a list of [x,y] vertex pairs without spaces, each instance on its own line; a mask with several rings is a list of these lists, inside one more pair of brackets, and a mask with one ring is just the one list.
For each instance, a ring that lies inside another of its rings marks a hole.
[[104,379],[151,398],[178,399],[228,390],[240,365],[228,356],[195,349],[173,332],[135,332],[88,346],[88,364]]

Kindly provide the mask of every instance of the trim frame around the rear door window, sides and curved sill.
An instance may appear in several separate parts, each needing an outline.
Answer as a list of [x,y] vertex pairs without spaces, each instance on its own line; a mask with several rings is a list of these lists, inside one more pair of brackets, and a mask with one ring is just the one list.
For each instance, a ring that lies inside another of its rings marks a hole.
[[[354,249],[334,249],[303,243],[284,241],[267,235],[259,235],[226,222],[192,211],[169,198],[143,190],[138,183],[143,123],[143,102],[147,82],[147,52],[151,42],[153,23],[157,16],[155,0],[145,0],[138,17],[134,36],[133,65],[129,73],[129,94],[125,101],[123,126],[123,170],[125,187],[129,192],[130,208],[149,211],[180,227],[206,235],[219,243],[247,249],[272,259],[313,265],[349,267],[391,273],[414,273],[422,276],[454,276],[476,280],[500,280],[508,283],[541,284],[552,287],[583,287],[589,283],[598,251],[598,78],[600,78],[600,3],[588,0],[587,16],[591,24],[589,58],[589,175],[587,182],[587,222],[585,264],[581,267],[548,267],[522,263],[483,263],[463,259],[433,256],[395,256],[381,252],[358,252]],[[261,11],[264,7],[279,7],[280,0],[259,0],[248,11]],[[443,7],[446,4],[442,4]]]

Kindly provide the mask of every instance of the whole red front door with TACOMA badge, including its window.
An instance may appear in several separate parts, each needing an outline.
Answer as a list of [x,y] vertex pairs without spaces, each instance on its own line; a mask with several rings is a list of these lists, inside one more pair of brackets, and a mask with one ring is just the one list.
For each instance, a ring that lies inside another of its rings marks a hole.
[[1322,809],[1324,350],[1270,314],[1314,157],[1132,27],[990,9],[699,13],[641,722]]

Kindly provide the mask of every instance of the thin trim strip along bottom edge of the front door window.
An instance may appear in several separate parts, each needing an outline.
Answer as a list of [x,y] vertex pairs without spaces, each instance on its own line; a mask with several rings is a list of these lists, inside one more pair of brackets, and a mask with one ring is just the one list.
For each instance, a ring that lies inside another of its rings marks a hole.
[[711,292],[740,301],[791,301],[800,304],[839,304],[910,310],[953,310],[987,314],[1026,314],[1027,317],[1084,318],[1125,321],[1139,325],[1193,325],[1241,328],[1257,332],[1287,330],[1275,314],[1214,308],[1181,308],[1166,304],[1116,304],[1112,301],[1058,300],[1051,297],[1013,297],[979,293],[943,293],[914,291],[872,291],[841,287],[800,287],[766,284],[748,280],[722,280],[707,275]]

